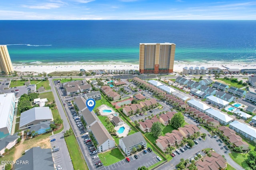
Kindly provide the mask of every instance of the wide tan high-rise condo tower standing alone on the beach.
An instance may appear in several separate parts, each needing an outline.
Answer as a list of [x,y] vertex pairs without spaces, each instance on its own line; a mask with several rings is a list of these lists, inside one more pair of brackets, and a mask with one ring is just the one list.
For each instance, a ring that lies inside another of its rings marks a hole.
[[174,43],[140,43],[140,74],[168,74],[173,71]]

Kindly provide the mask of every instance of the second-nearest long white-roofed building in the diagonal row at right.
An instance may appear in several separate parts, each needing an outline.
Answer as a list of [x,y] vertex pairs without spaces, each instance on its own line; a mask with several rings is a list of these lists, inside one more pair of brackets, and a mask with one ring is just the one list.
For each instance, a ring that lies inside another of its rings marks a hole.
[[214,118],[215,120],[219,121],[223,125],[228,125],[233,120],[232,117],[212,108],[207,109],[205,113],[206,115]]

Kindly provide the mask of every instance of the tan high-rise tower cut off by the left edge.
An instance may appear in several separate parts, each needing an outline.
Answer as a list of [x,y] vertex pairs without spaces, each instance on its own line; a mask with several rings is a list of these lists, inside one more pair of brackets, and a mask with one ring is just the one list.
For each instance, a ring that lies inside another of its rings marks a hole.
[[10,76],[14,73],[12,61],[6,45],[0,45],[0,75]]

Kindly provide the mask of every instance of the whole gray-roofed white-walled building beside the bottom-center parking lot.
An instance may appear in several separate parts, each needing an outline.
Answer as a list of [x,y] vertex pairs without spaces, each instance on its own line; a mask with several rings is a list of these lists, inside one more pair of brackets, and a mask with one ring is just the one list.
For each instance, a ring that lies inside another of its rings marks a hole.
[[142,148],[146,148],[147,143],[141,132],[134,133],[127,137],[119,139],[119,147],[124,151],[124,153],[129,156],[131,155],[132,148],[139,148],[139,145]]

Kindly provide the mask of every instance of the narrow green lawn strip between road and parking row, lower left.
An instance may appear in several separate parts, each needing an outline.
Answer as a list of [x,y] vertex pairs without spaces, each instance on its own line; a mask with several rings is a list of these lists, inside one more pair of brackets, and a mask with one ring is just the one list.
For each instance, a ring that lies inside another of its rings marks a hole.
[[65,137],[65,141],[68,147],[68,152],[72,160],[73,168],[75,170],[88,170],[87,164],[84,160],[84,156],[80,150],[80,147],[76,141],[76,137],[72,133],[68,137]]

